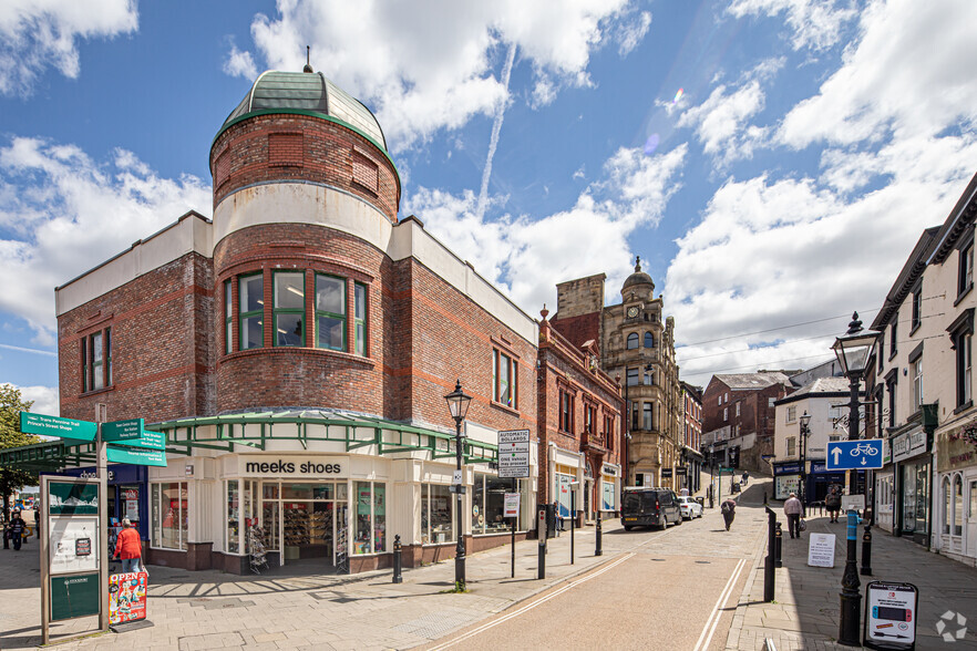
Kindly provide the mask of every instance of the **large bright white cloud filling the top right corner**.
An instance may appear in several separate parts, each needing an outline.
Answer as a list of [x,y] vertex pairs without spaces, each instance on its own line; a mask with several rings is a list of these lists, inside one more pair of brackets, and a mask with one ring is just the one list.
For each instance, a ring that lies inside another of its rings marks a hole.
[[820,92],[784,118],[780,140],[850,145],[934,136],[977,118],[977,2],[892,0],[861,17],[860,39]]

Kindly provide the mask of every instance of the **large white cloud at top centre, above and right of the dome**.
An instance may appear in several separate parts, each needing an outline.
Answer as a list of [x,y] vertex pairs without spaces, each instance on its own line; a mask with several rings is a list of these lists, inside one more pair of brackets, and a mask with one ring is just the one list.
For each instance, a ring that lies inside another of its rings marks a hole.
[[[617,40],[623,51],[644,35],[628,0],[549,3],[411,3],[279,0],[278,16],[256,16],[251,35],[269,66],[312,64],[376,108],[394,146],[424,142],[440,130],[493,115],[505,101],[501,69],[515,45],[535,81],[534,106],[563,86],[590,83],[590,55]],[[627,45],[627,46],[626,46]],[[317,62],[318,65],[317,65]]]

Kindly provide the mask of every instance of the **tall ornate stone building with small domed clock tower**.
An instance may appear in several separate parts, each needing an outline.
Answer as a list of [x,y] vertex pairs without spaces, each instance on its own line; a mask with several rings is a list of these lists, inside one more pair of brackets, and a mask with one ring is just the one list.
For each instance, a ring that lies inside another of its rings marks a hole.
[[[600,366],[624,382],[628,403],[627,484],[680,488],[676,468],[683,459],[682,399],[675,362],[675,320],[641,271],[620,289],[621,302],[605,306],[600,273],[556,286],[557,312],[551,323],[575,345],[597,343]],[[688,471],[686,471],[688,473]]]

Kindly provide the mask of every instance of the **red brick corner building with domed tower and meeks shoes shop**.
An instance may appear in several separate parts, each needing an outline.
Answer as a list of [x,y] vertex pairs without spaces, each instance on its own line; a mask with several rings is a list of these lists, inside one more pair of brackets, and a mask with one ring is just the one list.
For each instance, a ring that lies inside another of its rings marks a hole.
[[[531,432],[517,526],[532,526],[537,483],[548,498],[537,323],[420,219],[398,219],[369,110],[321,74],[267,72],[210,169],[213,220],[184,215],[56,290],[62,415],[105,404],[167,435],[166,467],[125,487],[148,562],[246,571],[261,542],[272,565],[358,571],[389,565],[394,535],[409,566],[451,557],[459,531],[470,551],[502,544],[503,430]],[[573,366],[582,406],[619,409],[606,376],[576,378],[583,353],[545,349],[547,368]],[[473,397],[460,509],[444,400],[457,379]]]

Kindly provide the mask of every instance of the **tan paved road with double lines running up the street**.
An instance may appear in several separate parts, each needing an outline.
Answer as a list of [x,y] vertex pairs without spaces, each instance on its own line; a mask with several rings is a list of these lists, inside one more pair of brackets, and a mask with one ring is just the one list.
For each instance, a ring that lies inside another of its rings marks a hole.
[[730,531],[718,508],[665,531],[615,531],[614,560],[428,648],[724,649],[764,524],[762,505],[744,504]]

